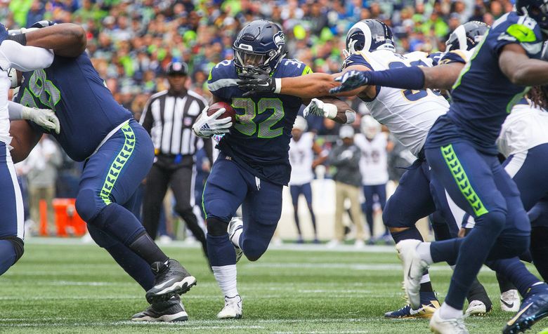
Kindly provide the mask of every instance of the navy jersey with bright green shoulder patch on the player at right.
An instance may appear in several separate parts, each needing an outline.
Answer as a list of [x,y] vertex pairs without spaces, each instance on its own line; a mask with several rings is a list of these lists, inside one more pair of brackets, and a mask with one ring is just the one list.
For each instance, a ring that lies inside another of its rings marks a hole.
[[502,123],[529,89],[514,85],[500,70],[500,51],[507,44],[519,44],[529,58],[540,58],[537,22],[515,12],[495,22],[453,86],[450,110],[433,127],[436,131],[431,131],[426,147],[466,140],[485,154],[497,154],[495,140]]

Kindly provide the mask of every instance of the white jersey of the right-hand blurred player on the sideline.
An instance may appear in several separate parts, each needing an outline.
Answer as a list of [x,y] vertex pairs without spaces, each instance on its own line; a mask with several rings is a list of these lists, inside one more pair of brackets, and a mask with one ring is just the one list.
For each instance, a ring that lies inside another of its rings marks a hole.
[[360,147],[360,173],[363,185],[384,185],[389,180],[386,153],[386,133],[377,133],[368,140],[363,133],[354,136],[354,144]]

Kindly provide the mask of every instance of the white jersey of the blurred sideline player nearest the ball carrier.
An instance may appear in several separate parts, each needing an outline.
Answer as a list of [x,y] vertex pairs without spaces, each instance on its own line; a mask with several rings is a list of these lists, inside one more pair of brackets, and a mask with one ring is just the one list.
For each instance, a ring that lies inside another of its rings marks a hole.
[[314,161],[314,134],[305,132],[295,141],[289,142],[289,163],[291,163],[291,180],[289,185],[304,185],[314,179],[312,163]]

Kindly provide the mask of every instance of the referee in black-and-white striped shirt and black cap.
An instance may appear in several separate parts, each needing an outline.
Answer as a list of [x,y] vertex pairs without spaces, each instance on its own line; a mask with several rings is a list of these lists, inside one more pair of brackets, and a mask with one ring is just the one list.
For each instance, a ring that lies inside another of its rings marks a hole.
[[176,213],[202,243],[207,256],[204,231],[193,213],[195,153],[203,146],[209,161],[213,161],[213,147],[211,139],[202,140],[192,131],[193,123],[208,103],[202,96],[185,88],[187,74],[188,65],[184,62],[170,62],[167,66],[169,89],[152,95],[141,116],[140,123],[152,136],[156,156],[145,185],[143,225],[155,239],[160,207],[169,185],[175,196]]

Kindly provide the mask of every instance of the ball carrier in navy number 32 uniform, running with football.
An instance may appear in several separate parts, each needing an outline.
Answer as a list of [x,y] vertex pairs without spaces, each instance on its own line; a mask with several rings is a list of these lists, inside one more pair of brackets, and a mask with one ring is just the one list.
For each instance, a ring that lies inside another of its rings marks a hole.
[[[217,145],[221,152],[203,194],[209,261],[225,298],[218,319],[242,316],[236,261],[242,253],[256,261],[268,248],[281,215],[282,187],[291,172],[291,130],[304,102],[280,91],[247,97],[237,80],[259,69],[275,80],[311,72],[304,63],[285,58],[285,36],[273,22],[256,20],[244,26],[233,48],[235,59],[223,60],[211,69],[208,86],[214,102],[229,102],[236,110],[235,123],[230,119],[219,123],[223,109],[211,116],[204,109],[193,126],[200,137],[226,133],[227,125],[233,126]],[[335,106],[327,116],[339,123],[352,123],[355,113],[350,107],[340,100],[331,101],[340,108]],[[243,220],[233,218],[240,205]]]

